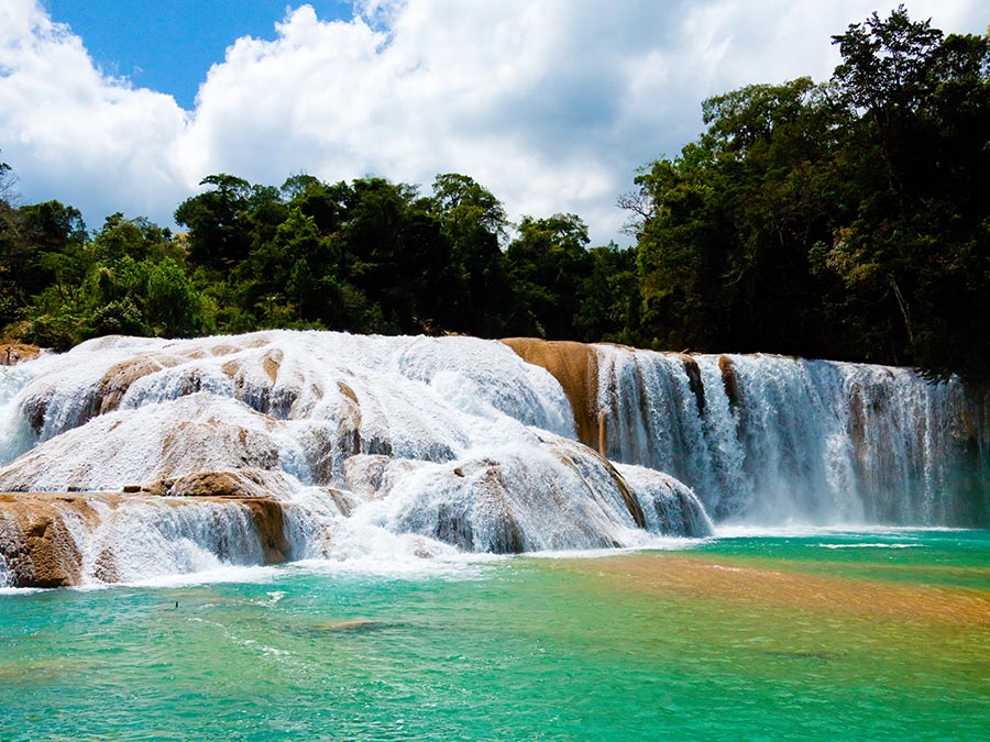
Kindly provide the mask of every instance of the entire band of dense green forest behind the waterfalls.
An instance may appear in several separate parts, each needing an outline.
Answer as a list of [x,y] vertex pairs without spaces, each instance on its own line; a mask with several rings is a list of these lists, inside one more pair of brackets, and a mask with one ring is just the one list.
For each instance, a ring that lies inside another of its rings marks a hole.
[[89,233],[14,207],[0,167],[0,325],[106,333],[463,332],[768,351],[990,377],[990,37],[903,8],[834,37],[832,79],[706,100],[707,130],[620,197],[636,244],[524,217],[463,175],[280,188],[231,175]]

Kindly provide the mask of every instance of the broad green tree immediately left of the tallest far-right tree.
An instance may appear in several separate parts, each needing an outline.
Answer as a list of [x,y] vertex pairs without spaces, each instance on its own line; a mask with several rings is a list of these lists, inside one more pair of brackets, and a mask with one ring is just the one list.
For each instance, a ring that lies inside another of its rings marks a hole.
[[827,89],[801,78],[703,103],[707,131],[653,163],[639,230],[644,330],[667,347],[813,353],[827,290],[807,265],[829,236],[840,125]]

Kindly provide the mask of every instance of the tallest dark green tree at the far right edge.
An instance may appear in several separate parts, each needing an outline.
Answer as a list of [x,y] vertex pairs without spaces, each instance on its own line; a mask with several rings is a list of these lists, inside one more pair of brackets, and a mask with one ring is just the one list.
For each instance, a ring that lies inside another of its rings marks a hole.
[[816,255],[868,344],[933,373],[990,375],[990,40],[903,7],[834,41],[851,218]]

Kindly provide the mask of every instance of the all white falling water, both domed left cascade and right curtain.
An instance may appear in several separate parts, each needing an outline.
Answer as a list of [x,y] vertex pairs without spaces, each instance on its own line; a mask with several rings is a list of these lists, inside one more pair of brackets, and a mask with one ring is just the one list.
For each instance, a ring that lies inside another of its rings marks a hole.
[[[711,533],[679,479],[723,522],[968,517],[960,452],[985,438],[957,381],[732,356],[730,400],[716,356],[696,357],[702,396],[678,356],[597,353],[615,464],[576,442],[557,380],[494,341],[105,337],[0,368],[0,491],[120,491],[240,472],[246,495],[284,503],[292,558],[377,565]],[[979,514],[990,508],[977,484]],[[84,583],[263,560],[238,502],[136,495],[92,507],[96,518],[65,516]]]

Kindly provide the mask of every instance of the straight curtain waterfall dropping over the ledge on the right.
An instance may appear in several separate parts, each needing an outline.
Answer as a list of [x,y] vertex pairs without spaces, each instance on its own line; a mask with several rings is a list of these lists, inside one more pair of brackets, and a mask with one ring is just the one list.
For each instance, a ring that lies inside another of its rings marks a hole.
[[603,455],[678,477],[716,520],[990,523],[987,398],[956,378],[596,350]]

